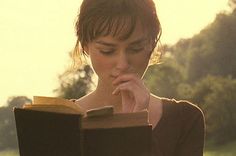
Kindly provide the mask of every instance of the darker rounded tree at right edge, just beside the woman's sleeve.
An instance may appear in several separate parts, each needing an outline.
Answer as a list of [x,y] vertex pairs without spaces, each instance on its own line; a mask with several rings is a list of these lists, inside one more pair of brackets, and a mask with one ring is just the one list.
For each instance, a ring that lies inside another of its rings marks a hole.
[[207,137],[216,144],[236,139],[236,79],[207,76],[194,86],[192,101],[206,118]]

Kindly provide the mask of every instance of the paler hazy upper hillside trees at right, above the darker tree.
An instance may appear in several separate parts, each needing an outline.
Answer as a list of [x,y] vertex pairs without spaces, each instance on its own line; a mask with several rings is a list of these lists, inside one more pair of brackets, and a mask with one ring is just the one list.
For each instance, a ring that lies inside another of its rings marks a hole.
[[170,48],[186,80],[194,83],[206,75],[236,78],[236,10],[218,14],[215,21],[191,39]]

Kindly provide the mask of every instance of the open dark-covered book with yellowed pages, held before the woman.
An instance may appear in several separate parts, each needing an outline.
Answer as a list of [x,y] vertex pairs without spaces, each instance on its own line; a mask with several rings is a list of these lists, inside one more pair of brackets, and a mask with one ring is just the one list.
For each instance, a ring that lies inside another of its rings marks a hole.
[[62,98],[35,96],[14,108],[21,156],[149,156],[148,112],[114,113],[107,106],[85,112]]

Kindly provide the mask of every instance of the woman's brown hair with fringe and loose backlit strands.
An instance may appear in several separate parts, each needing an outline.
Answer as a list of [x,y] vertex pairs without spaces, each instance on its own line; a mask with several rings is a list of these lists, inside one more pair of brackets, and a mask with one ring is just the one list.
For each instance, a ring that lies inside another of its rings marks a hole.
[[99,36],[112,35],[120,40],[127,39],[137,21],[148,33],[152,51],[161,36],[161,26],[153,0],[83,0],[76,22],[77,43],[73,58],[80,58],[82,47]]

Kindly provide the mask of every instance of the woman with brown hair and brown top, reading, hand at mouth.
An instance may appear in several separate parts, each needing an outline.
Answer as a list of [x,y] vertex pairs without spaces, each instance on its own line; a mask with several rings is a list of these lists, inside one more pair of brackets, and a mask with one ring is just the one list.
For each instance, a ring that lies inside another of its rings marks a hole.
[[85,110],[112,105],[121,113],[146,109],[153,155],[203,155],[201,110],[187,101],[157,97],[142,81],[161,34],[152,0],[84,0],[76,32],[75,63],[87,55],[98,75],[96,89],[77,104]]

